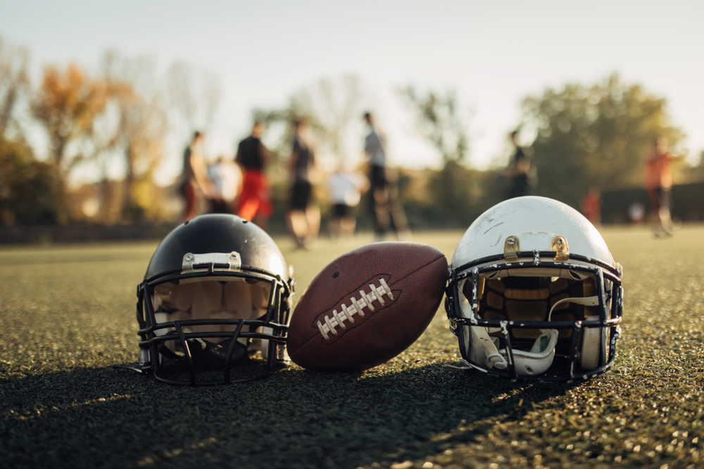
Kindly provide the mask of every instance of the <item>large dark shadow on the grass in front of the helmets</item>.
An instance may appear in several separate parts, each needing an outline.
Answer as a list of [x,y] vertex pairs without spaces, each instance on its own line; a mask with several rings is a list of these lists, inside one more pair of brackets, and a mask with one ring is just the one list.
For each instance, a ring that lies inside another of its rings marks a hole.
[[[96,368],[0,381],[9,467],[356,468],[438,454],[520,420],[567,385],[438,365],[384,373],[289,368],[244,385],[174,387]],[[522,406],[519,404],[522,402]]]

